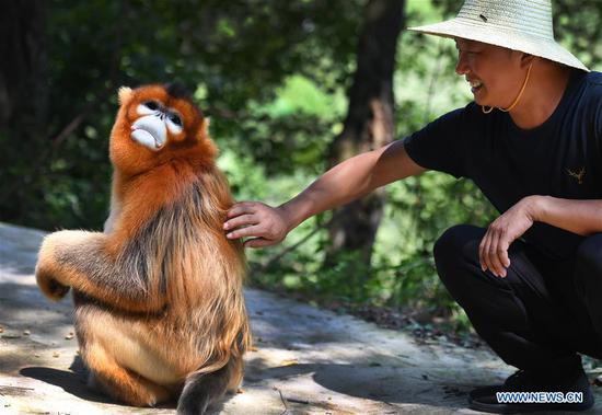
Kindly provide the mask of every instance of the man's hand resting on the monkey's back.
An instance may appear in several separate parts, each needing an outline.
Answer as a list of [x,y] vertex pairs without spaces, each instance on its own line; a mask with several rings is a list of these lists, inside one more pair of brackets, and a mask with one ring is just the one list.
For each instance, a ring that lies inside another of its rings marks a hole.
[[289,220],[280,207],[259,201],[241,201],[230,208],[223,229],[228,239],[251,238],[245,247],[270,246],[281,242],[289,232]]

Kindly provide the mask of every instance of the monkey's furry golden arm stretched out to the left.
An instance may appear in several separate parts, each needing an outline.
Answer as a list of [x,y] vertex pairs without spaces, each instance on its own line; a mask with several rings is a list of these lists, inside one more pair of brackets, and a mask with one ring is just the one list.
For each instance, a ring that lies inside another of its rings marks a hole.
[[136,266],[112,257],[106,240],[104,233],[84,231],[60,231],[46,237],[36,265],[42,291],[57,301],[72,287],[124,311],[163,309],[165,296],[149,287]]

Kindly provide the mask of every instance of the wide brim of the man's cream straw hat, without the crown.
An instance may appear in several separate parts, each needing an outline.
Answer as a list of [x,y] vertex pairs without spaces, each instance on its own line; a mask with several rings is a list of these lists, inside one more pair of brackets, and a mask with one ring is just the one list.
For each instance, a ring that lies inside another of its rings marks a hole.
[[509,31],[506,27],[495,24],[483,26],[483,24],[478,22],[455,18],[441,23],[408,27],[408,31],[435,36],[461,37],[470,41],[483,42],[508,49],[524,51],[589,72],[589,69],[579,59],[556,42],[532,36],[519,31]]

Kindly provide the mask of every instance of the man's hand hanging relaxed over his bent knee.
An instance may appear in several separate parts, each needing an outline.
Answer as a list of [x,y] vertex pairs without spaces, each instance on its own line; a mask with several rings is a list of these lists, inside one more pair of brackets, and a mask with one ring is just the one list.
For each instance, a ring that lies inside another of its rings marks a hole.
[[478,246],[483,270],[489,269],[497,277],[506,277],[506,269],[510,266],[508,247],[533,226],[535,200],[536,196],[522,198],[489,224]]

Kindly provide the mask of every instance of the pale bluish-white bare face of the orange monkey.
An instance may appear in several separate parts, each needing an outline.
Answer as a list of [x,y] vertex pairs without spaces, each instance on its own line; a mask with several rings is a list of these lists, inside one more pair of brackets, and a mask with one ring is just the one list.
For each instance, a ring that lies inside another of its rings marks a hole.
[[182,115],[159,101],[150,100],[138,104],[140,117],[131,125],[131,139],[152,150],[161,150],[170,134],[176,136],[184,129]]

